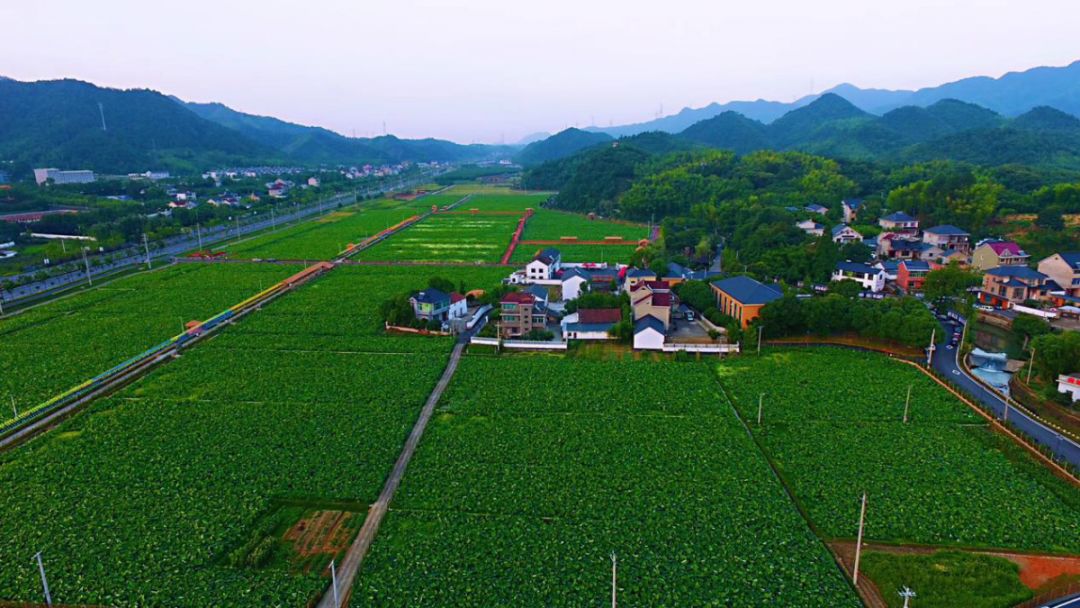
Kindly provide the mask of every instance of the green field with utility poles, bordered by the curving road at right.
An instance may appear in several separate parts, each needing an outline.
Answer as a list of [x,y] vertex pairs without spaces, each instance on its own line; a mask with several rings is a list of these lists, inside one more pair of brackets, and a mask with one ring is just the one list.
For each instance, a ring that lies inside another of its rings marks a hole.
[[[720,364],[726,392],[828,538],[1080,553],[1080,490],[916,370],[840,349]],[[902,421],[907,387],[910,421]]]

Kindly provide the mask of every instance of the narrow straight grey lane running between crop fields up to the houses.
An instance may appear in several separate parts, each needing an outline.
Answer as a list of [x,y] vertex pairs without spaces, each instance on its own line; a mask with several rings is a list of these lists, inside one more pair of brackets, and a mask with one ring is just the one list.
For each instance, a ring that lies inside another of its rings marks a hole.
[[[443,370],[443,376],[438,379],[438,383],[435,384],[435,389],[428,395],[428,401],[423,404],[423,409],[420,410],[420,417],[417,418],[416,424],[413,425],[413,431],[409,433],[408,440],[405,441],[405,446],[397,456],[397,461],[394,462],[394,468],[390,472],[390,476],[387,477],[387,483],[382,486],[379,498],[368,509],[363,527],[360,528],[360,532],[352,541],[352,545],[349,546],[349,552],[346,554],[345,559],[338,565],[337,595],[340,600],[339,605],[346,605],[347,598],[352,592],[352,584],[356,579],[356,573],[360,572],[360,566],[364,562],[364,556],[367,555],[367,550],[372,546],[372,542],[375,541],[375,535],[379,531],[379,525],[382,524],[382,518],[390,508],[390,501],[393,500],[394,492],[397,491],[397,486],[401,485],[402,477],[405,475],[405,469],[408,467],[413,454],[416,452],[416,448],[420,444],[420,438],[423,436],[423,431],[428,427],[428,421],[431,420],[431,415],[434,413],[435,406],[438,405],[438,400],[443,396],[443,391],[449,386],[450,380],[454,378],[454,373],[458,369],[458,362],[461,361],[461,353],[464,351],[465,344],[469,343],[469,339],[483,326],[483,323],[477,323],[471,330],[458,337],[457,343],[454,344],[454,352],[450,353],[450,360],[446,364],[446,369]],[[326,594],[323,595],[316,608],[338,608],[338,605],[335,605],[334,600],[335,594],[333,587],[327,589]]]

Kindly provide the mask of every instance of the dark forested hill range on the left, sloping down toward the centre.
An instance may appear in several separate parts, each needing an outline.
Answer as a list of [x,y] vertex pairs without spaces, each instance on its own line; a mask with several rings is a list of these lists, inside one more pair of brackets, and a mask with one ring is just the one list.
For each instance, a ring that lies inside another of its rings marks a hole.
[[[103,119],[104,114],[104,119]],[[104,121],[104,124],[103,124]],[[77,80],[0,79],[0,159],[32,166],[129,173],[198,172],[225,164],[359,164],[507,158],[499,146],[393,136],[349,138],[220,104],[185,104],[149,90]]]

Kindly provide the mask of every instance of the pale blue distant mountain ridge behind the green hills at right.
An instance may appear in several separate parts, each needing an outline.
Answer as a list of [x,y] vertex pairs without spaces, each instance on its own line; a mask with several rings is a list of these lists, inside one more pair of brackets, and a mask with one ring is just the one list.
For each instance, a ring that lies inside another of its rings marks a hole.
[[703,108],[684,108],[675,114],[657,120],[611,127],[590,126],[585,131],[607,133],[613,137],[647,131],[679,133],[691,124],[727,111],[741,113],[758,122],[771,123],[785,113],[805,107],[829,93],[839,95],[856,108],[875,114],[883,114],[903,106],[927,107],[942,99],[957,99],[980,105],[1005,117],[1016,117],[1040,106],[1050,106],[1066,113],[1080,116],[1080,60],[1063,67],[1037,67],[1009,72],[1000,78],[966,78],[918,91],[861,89],[843,83],[791,103],[765,99],[714,103]]

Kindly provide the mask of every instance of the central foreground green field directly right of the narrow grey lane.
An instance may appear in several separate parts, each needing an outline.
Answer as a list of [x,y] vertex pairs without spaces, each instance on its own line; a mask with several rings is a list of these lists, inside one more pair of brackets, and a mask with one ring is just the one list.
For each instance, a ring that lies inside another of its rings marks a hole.
[[[675,396],[677,395],[677,396]],[[353,606],[859,606],[708,367],[465,357]]]

